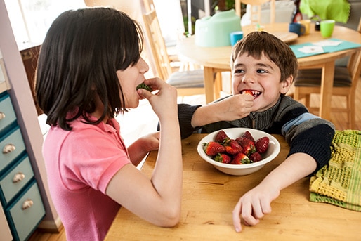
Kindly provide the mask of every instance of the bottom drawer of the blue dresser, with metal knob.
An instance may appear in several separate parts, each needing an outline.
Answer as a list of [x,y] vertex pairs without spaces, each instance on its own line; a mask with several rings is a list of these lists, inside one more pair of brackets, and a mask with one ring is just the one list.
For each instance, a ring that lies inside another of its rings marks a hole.
[[15,230],[15,240],[25,240],[37,228],[45,216],[45,209],[35,181],[12,207],[6,209],[6,213],[10,216],[11,229]]

